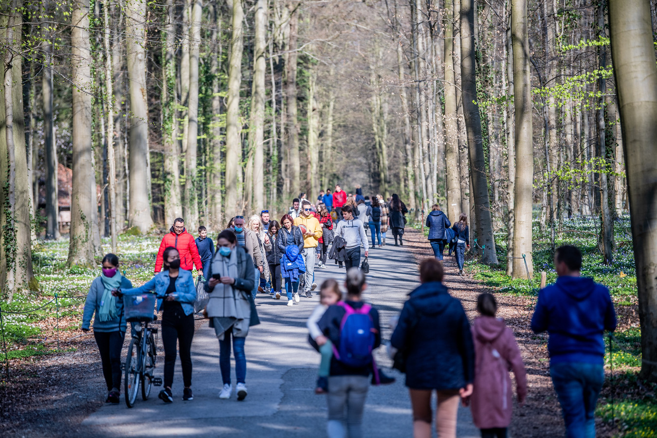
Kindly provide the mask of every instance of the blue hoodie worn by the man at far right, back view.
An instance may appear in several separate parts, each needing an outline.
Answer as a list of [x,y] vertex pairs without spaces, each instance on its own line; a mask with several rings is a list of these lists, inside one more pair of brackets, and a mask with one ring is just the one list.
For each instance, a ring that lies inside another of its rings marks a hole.
[[560,276],[539,292],[532,330],[550,334],[551,363],[604,363],[604,330],[616,330],[609,290],[593,278]]

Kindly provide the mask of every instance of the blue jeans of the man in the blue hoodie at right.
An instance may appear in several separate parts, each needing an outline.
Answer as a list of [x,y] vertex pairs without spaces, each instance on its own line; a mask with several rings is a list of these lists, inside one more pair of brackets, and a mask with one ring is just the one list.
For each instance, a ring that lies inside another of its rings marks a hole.
[[558,362],[550,365],[550,376],[566,423],[566,437],[595,438],[595,404],[604,382],[604,365]]

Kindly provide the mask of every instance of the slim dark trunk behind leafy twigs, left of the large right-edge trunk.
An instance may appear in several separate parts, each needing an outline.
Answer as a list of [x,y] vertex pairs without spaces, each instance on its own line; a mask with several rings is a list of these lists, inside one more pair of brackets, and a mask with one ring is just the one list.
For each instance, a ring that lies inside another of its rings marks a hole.
[[[606,37],[606,31],[604,30],[604,12],[606,5],[604,1],[600,1],[597,6],[597,26],[599,37]],[[598,47],[598,60],[600,70],[607,68],[607,52],[606,47],[600,45]],[[598,149],[600,152],[600,164],[598,165],[600,169],[600,213],[602,214],[602,253],[604,255],[603,263],[605,265],[614,264],[614,222],[612,221],[612,214],[609,208],[609,186],[607,185],[607,173],[609,167],[607,165],[607,155],[606,155],[606,123],[604,117],[604,95],[607,92],[606,79],[600,77],[598,79],[598,110],[597,110],[597,122],[598,122]]]

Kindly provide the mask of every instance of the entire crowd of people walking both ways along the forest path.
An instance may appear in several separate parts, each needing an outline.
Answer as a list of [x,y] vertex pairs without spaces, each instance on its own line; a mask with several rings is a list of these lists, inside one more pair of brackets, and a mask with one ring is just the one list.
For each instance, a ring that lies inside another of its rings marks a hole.
[[[303,195],[303,194],[302,194]],[[361,208],[364,206],[364,208]],[[332,214],[333,213],[333,214]],[[392,383],[376,366],[373,351],[384,342],[376,306],[365,303],[365,273],[359,269],[361,248],[385,244],[387,227],[395,244],[403,245],[407,209],[394,194],[382,197],[321,192],[317,203],[305,196],[295,199],[281,221],[269,211],[246,219],[230,219],[216,244],[204,227],[194,239],[183,219],[175,219],[162,238],[152,280],[132,288],[120,274],[118,257],[102,260],[102,274],[94,280],[85,303],[82,329],[91,317],[101,353],[102,372],[108,389],[106,401],[120,399],[120,353],[126,323],[121,318],[122,297],[154,291],[156,309],[162,311],[164,389],[160,399],[173,402],[174,364],[181,359],[183,401],[193,400],[191,343],[194,336],[194,301],[198,284],[192,270],[202,273],[202,288],[209,296],[203,310],[219,340],[219,368],[223,387],[219,399],[233,394],[231,345],[235,357],[237,400],[247,395],[244,343],[251,326],[260,324],[255,297],[258,292],[274,299],[287,297],[287,306],[312,297],[317,288],[314,269],[326,267],[327,257],[346,267],[344,288],[336,280],[320,287],[320,303],[307,322],[311,345],[321,354],[316,393],[327,394],[330,438],[363,436],[362,420],[369,385]],[[371,232],[372,245],[365,233]],[[463,254],[469,247],[467,217],[451,224],[434,206],[426,219],[435,257],[419,265],[419,286],[410,294],[399,317],[391,322],[392,338],[386,351],[394,368],[405,373],[413,410],[413,436],[432,436],[436,419],[438,437],[456,436],[459,403],[470,406],[482,437],[507,437],[512,418],[509,371],[514,373],[518,403],[528,387],[526,371],[512,330],[496,317],[497,302],[491,294],[477,299],[479,316],[470,325],[459,299],[443,284],[445,244],[453,249],[463,274]],[[449,231],[451,230],[451,232]],[[451,252],[450,248],[450,252]],[[595,437],[594,412],[604,380],[604,330],[616,328],[616,315],[608,290],[579,275],[581,253],[562,246],[555,253],[556,284],[541,290],[532,319],[532,330],[549,333],[550,374],[562,406],[568,437]],[[283,292],[284,287],[284,292]],[[436,412],[432,397],[436,393]]]

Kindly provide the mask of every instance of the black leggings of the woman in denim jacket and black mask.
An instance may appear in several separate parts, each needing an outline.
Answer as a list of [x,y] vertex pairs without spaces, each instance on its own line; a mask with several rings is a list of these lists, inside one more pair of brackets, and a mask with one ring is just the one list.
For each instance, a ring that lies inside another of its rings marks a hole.
[[185,315],[180,303],[162,313],[162,344],[164,344],[164,387],[171,387],[175,367],[176,341],[180,347],[180,364],[183,367],[185,387],[192,385],[192,338],[194,314]]

